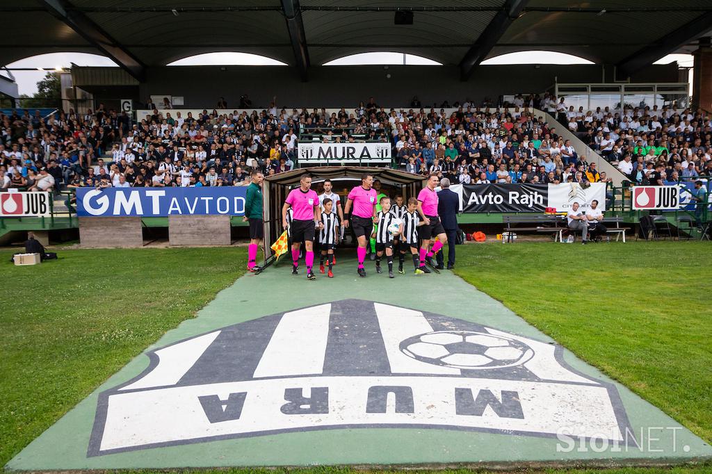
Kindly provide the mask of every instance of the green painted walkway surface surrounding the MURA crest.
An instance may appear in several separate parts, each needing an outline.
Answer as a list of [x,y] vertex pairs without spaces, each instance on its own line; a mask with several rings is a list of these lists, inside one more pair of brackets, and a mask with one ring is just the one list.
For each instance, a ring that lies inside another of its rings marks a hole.
[[[183,322],[149,349],[264,315],[347,298],[412,307],[551,342],[500,302],[447,271],[441,275],[397,275],[394,280],[370,271],[364,280],[357,278],[354,262],[343,258],[335,267],[333,280],[321,277],[310,282],[303,275],[292,277],[289,273],[290,269],[281,265],[268,268],[261,275],[239,278],[201,310],[196,319]],[[611,382],[570,352],[565,352],[564,358],[574,369]],[[519,461],[615,463],[630,459],[681,463],[693,458],[712,458],[712,448],[704,441],[620,385],[617,388],[633,431],[639,436],[642,430],[642,451],[628,448],[597,453],[585,445],[586,451],[560,452],[557,451],[560,443],[555,438],[432,428],[357,428],[235,438],[87,458],[98,393],[132,379],[147,364],[145,355],[132,360],[6,467],[68,470]]]

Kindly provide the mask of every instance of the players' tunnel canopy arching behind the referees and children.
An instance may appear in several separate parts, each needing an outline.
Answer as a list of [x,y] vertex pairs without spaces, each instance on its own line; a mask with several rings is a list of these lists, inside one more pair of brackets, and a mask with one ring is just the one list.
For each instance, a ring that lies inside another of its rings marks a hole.
[[346,204],[346,196],[353,186],[361,184],[364,173],[373,175],[381,181],[381,190],[389,196],[402,195],[405,199],[417,196],[424,184],[424,177],[407,173],[398,169],[371,167],[312,167],[298,168],[288,172],[265,177],[263,186],[263,219],[265,229],[265,256],[272,254],[271,244],[283,232],[282,206],[289,191],[299,186],[299,180],[304,174],[311,174],[312,189],[321,193],[325,179],[330,179],[334,185],[333,191],[340,196],[341,206]]

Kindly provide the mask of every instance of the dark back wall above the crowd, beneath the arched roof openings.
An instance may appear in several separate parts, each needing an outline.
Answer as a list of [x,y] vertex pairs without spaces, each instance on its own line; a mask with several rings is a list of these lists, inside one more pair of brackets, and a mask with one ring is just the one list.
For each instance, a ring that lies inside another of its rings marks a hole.
[[[466,98],[496,101],[499,95],[553,90],[556,81],[600,83],[603,78],[601,65],[488,65],[479,67],[467,82],[460,80],[455,66],[319,66],[309,69],[309,80],[303,83],[286,66],[164,66],[148,68],[137,99],[177,95],[184,97],[182,108],[212,109],[221,96],[229,108],[237,108],[243,94],[256,107],[266,107],[276,95],[279,106],[353,108],[370,96],[379,104],[406,106],[417,95],[430,106]],[[676,63],[650,66],[632,80],[676,82]]]

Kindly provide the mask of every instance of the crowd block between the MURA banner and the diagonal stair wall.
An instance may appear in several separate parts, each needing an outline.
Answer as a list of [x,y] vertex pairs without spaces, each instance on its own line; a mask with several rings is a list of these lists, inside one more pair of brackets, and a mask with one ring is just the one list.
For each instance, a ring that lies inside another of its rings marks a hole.
[[528,108],[392,111],[400,167],[461,184],[609,181]]

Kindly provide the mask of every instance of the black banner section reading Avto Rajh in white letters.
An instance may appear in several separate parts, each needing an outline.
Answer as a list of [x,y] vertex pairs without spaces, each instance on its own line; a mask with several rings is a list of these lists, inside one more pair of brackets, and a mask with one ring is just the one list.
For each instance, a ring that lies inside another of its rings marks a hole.
[[465,184],[463,212],[543,212],[548,202],[546,184]]

